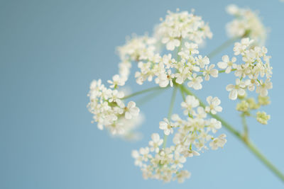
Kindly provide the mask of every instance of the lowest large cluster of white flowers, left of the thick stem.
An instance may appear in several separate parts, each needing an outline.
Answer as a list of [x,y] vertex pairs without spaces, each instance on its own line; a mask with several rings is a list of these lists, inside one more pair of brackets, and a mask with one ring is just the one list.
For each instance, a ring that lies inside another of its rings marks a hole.
[[207,102],[208,105],[202,108],[194,96],[187,96],[181,103],[184,114],[187,115],[186,120],[174,114],[171,120],[165,118],[160,122],[160,130],[163,130],[165,135],[173,134],[176,130],[173,136],[174,145],[165,147],[165,141],[160,139],[158,133],[153,133],[148,147],[132,151],[135,165],[141,168],[143,178],[164,182],[178,180],[181,183],[190,177],[190,172],[181,170],[187,158],[199,156],[200,151],[203,152],[209,147],[213,150],[224,147],[226,134],[219,137],[212,135],[222,127],[222,123],[214,118],[207,118],[207,113],[214,114],[222,110],[219,106],[221,102],[219,98],[212,96],[207,98]]

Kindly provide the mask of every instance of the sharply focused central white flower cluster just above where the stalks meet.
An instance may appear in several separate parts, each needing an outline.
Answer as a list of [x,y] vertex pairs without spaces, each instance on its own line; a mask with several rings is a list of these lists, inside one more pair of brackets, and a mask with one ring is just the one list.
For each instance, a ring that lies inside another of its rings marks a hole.
[[[152,61],[138,62],[136,81],[143,84],[144,81],[152,81],[155,76],[155,83],[160,87],[173,86],[173,81],[178,84],[187,82],[187,86],[199,90],[202,88],[202,81],[208,81],[210,76],[217,77],[218,70],[214,64],[209,64],[208,57],[198,55],[196,43],[185,42],[184,47],[178,52],[178,60],[173,59],[171,54],[156,54]],[[175,71],[175,73],[173,73]]]

